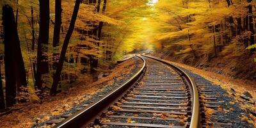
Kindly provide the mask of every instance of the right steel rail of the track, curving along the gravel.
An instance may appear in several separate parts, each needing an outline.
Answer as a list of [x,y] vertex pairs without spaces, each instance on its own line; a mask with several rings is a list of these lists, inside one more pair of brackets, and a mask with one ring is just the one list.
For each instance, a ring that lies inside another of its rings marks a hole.
[[191,87],[193,89],[193,111],[192,111],[191,122],[189,124],[189,128],[199,128],[199,127],[202,127],[202,125],[200,123],[199,95],[198,95],[198,90],[197,90],[195,81],[188,75],[187,72],[185,72],[181,68],[177,67],[176,65],[173,65],[170,61],[162,60],[162,59],[156,58],[154,56],[148,56],[146,54],[141,54],[141,55],[145,56],[147,58],[152,58],[154,60],[161,61],[162,63],[165,63],[167,65],[170,65],[171,67],[173,67],[176,70],[178,70],[181,73],[182,76],[186,77],[186,79],[189,80],[189,85],[191,85]]

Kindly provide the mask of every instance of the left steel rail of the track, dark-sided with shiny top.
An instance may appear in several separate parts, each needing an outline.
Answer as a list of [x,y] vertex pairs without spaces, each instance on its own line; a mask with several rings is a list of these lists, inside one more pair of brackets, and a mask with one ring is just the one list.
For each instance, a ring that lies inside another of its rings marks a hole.
[[99,117],[103,111],[108,109],[108,106],[114,104],[116,100],[120,99],[120,97],[122,97],[122,95],[124,95],[124,93],[127,92],[127,90],[131,88],[131,86],[136,83],[136,81],[138,81],[138,79],[140,79],[142,74],[145,72],[146,61],[141,58],[141,56],[138,56],[138,58],[143,61],[143,67],[141,67],[140,70],[131,77],[131,79],[118,88],[115,88],[115,90],[109,92],[106,96],[96,100],[92,104],[86,106],[86,108],[77,111],[77,113],[74,115],[69,116],[62,122],[56,124],[54,127],[84,127],[92,122],[95,118]]

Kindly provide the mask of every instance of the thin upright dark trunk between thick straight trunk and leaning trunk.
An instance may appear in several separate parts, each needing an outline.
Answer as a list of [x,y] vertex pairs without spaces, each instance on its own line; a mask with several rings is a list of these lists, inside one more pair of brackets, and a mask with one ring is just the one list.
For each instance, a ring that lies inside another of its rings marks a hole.
[[[53,40],[52,40],[52,47],[56,48],[59,46],[60,43],[60,29],[61,29],[61,0],[55,0],[55,22],[54,22],[54,33],[53,33]],[[58,56],[59,53],[54,49],[55,52],[53,53],[53,69],[57,68],[58,65]]]

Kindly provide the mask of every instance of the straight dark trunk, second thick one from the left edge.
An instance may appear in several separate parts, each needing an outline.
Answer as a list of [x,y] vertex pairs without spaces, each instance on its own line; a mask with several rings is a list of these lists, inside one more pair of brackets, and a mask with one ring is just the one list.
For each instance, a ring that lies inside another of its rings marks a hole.
[[37,48],[36,88],[42,90],[42,74],[49,72],[47,45],[49,42],[49,0],[39,0],[39,37]]

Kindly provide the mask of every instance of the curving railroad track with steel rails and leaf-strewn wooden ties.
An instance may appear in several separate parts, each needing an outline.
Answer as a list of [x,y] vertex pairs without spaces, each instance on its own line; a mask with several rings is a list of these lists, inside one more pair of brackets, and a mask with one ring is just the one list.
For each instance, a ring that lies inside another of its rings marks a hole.
[[127,83],[55,127],[200,127],[198,92],[188,74],[167,61],[138,57],[143,67]]

